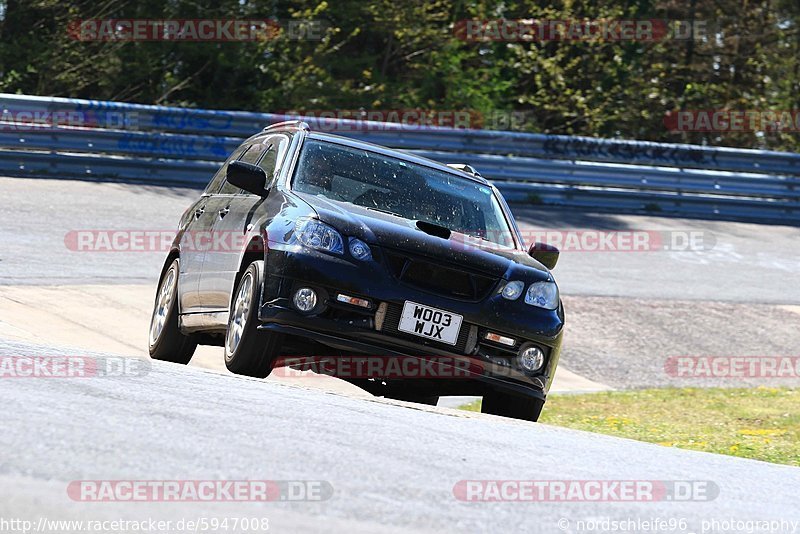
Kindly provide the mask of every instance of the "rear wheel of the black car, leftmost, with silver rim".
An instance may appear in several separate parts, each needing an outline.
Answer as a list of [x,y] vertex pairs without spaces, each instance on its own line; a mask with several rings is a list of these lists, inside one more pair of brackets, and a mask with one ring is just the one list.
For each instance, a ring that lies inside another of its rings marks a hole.
[[148,349],[154,360],[186,365],[197,348],[194,336],[178,328],[178,275],[180,260],[175,258],[161,275],[150,317]]

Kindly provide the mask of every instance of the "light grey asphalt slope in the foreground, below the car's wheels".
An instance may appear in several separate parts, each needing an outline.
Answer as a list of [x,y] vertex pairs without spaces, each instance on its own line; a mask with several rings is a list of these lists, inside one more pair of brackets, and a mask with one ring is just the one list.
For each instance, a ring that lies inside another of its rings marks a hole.
[[[2,351],[58,353],[30,344]],[[161,362],[133,378],[6,382],[3,517],[267,517],[275,532],[578,532],[578,521],[602,518],[685,520],[684,532],[700,532],[711,520],[800,520],[800,470],[791,467]],[[321,480],[333,492],[323,502],[211,504],[67,494],[80,480],[218,479]],[[462,480],[528,479],[713,489],[690,502],[464,502],[454,494]]]

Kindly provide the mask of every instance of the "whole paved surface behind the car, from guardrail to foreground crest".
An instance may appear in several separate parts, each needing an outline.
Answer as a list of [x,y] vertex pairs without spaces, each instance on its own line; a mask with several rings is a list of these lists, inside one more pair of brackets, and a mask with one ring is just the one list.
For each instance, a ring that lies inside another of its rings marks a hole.
[[[0,338],[39,340],[45,322],[50,342],[144,357],[165,252],[77,252],[67,246],[67,235],[174,231],[198,194],[179,187],[0,178],[0,197],[13,206],[0,212]],[[562,253],[555,274],[567,333],[556,390],[703,385],[666,375],[664,363],[676,355],[797,352],[796,227],[514,211],[526,236],[585,229],[694,232],[703,238],[698,250]],[[224,369],[216,348],[201,348],[192,364]]]

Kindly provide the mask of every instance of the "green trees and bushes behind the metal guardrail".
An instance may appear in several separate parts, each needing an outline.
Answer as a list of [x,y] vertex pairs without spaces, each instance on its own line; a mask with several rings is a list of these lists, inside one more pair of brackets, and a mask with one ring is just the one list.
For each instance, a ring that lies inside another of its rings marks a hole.
[[[670,132],[678,110],[800,109],[790,0],[5,0],[0,90],[260,111],[468,111],[475,126],[800,150],[797,133]],[[322,21],[319,38],[78,41],[79,19]],[[465,19],[661,19],[696,39],[467,41]],[[511,123],[489,120],[515,113]]]

